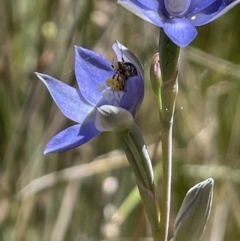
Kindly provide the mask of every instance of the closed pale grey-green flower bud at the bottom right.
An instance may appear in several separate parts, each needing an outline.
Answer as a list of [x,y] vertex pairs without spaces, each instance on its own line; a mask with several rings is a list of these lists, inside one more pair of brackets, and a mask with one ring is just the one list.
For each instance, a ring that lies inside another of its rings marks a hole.
[[173,241],[198,241],[208,220],[214,180],[207,180],[192,187],[186,194],[174,224]]

